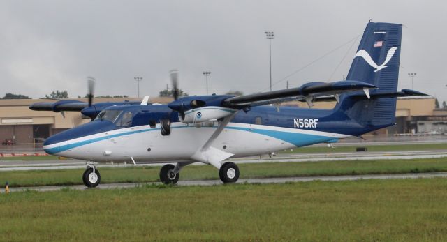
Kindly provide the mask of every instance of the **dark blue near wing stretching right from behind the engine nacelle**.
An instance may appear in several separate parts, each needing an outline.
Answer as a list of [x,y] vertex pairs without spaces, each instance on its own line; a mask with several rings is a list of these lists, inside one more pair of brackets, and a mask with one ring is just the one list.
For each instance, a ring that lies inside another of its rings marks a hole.
[[315,98],[333,95],[337,99],[340,94],[351,91],[365,91],[366,96],[369,98],[369,89],[376,88],[377,86],[372,84],[358,81],[309,82],[293,89],[227,98],[223,100],[222,105],[224,107],[237,108],[281,103],[290,100],[305,100],[312,106],[312,101]]

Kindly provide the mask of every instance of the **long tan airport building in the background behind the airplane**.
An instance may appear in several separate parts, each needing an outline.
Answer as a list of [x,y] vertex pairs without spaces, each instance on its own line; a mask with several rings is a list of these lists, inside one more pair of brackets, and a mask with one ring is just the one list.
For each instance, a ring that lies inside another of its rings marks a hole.
[[[95,98],[95,103],[135,101],[142,98]],[[77,99],[87,101],[86,99]],[[151,103],[169,103],[172,98],[152,98]],[[59,133],[90,121],[79,112],[37,112],[28,107],[32,103],[52,102],[50,99],[0,100],[0,141],[3,144],[34,144]],[[293,102],[285,105],[307,107],[306,103]],[[335,103],[314,103],[313,108],[332,109]],[[375,135],[447,133],[447,109],[435,109],[432,97],[398,98],[396,125],[377,130]]]

